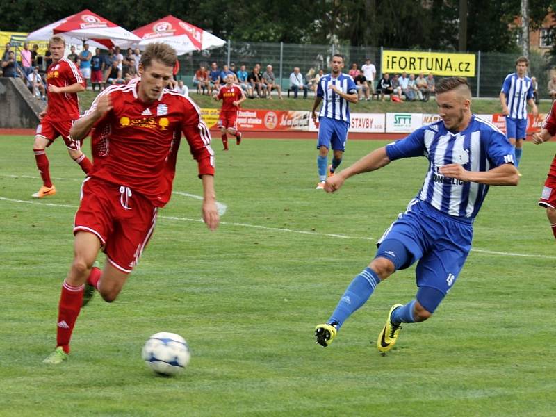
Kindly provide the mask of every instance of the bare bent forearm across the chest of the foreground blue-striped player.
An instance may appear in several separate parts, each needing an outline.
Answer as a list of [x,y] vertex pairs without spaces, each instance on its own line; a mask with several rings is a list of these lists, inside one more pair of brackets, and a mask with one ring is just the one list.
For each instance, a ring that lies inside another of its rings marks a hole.
[[445,177],[486,186],[516,186],[519,183],[518,170],[512,163],[504,163],[488,171],[468,171],[459,163],[451,163],[439,167],[439,172]]

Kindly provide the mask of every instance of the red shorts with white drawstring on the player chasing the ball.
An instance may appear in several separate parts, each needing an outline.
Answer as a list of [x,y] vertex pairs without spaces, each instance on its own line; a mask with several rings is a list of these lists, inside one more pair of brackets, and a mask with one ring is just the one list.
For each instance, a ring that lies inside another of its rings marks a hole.
[[74,234],[88,231],[97,235],[108,261],[129,273],[152,236],[157,211],[147,197],[128,187],[88,177],[81,187]]

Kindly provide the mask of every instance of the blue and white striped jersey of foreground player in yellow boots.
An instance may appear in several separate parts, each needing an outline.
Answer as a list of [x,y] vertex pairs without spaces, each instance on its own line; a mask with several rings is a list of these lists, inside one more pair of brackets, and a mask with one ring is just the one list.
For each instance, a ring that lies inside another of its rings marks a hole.
[[514,148],[504,133],[475,115],[467,128],[457,133],[448,131],[442,120],[427,124],[386,145],[386,154],[391,161],[426,156],[429,171],[417,198],[443,213],[468,220],[477,215],[489,186],[445,178],[439,167],[459,163],[468,171],[488,171],[514,163]]

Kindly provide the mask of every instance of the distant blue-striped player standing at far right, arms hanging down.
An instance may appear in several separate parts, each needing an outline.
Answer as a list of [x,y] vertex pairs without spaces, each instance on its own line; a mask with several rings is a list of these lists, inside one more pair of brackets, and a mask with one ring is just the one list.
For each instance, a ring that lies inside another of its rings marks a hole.
[[537,117],[537,105],[534,104],[534,86],[526,75],[529,60],[520,56],[516,60],[516,72],[507,74],[500,91],[502,114],[506,116],[506,136],[516,148],[516,167],[519,166],[523,153],[523,140],[527,130],[527,104]]

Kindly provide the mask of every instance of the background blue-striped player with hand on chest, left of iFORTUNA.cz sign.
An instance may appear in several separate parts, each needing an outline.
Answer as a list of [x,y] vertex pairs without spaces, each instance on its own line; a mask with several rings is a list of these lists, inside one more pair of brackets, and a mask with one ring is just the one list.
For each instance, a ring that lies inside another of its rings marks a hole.
[[[347,140],[347,128],[350,126],[349,103],[357,103],[357,88],[351,76],[342,74],[343,56],[335,54],[330,60],[332,72],[322,76],[318,81],[315,103],[313,104],[313,121],[317,120],[316,110],[321,101],[324,104],[318,113],[317,166],[319,181],[317,190],[325,188],[327,175],[333,176],[334,171],[342,162]],[[334,155],[332,164],[328,165],[328,150],[332,145]]]

